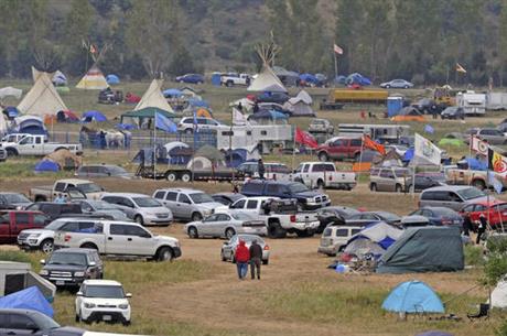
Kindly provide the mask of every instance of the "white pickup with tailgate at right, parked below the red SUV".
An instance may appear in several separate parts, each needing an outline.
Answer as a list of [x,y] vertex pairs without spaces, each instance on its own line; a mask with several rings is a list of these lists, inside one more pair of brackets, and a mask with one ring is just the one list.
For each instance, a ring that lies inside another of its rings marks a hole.
[[354,172],[338,172],[333,162],[302,162],[292,175],[310,188],[353,189],[357,184]]

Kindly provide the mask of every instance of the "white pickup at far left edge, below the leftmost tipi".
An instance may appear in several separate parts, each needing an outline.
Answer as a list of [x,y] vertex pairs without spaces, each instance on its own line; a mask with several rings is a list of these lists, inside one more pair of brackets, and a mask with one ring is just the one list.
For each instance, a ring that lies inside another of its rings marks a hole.
[[15,155],[40,155],[44,156],[60,149],[67,149],[74,154],[82,154],[80,143],[47,142],[45,136],[26,136],[18,142],[6,142],[2,144],[9,156]]

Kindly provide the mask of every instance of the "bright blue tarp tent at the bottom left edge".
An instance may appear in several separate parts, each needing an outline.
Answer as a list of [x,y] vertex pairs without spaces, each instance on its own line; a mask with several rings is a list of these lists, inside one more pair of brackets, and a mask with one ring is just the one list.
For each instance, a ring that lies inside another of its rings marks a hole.
[[33,310],[53,317],[53,307],[36,286],[0,297],[0,308]]

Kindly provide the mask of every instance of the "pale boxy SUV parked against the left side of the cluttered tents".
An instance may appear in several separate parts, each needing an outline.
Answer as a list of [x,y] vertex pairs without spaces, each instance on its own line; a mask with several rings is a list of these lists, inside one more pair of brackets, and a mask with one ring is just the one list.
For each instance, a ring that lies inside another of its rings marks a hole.
[[330,225],[324,229],[317,252],[330,257],[336,256],[347,246],[348,240],[358,234],[362,225]]

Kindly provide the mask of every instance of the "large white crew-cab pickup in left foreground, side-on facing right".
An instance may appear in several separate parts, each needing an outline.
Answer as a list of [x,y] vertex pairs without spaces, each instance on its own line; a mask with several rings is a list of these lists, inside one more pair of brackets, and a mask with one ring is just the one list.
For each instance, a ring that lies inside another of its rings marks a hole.
[[106,256],[165,261],[182,254],[180,241],[157,236],[137,223],[103,220],[83,231],[55,231],[55,248],[88,248]]

